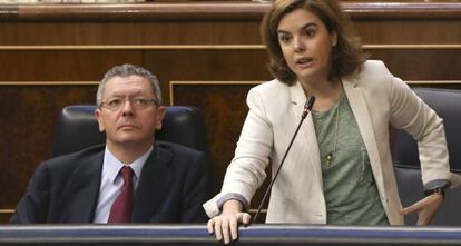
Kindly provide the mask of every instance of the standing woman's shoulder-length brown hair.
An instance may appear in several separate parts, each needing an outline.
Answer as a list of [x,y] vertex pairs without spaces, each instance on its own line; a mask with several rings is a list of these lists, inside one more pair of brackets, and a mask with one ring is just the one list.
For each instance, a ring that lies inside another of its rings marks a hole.
[[261,36],[267,47],[269,72],[279,81],[293,85],[296,75],[287,66],[278,42],[277,28],[283,17],[296,9],[307,10],[321,19],[330,33],[336,32],[337,43],[332,50],[328,79],[360,71],[367,59],[362,43],[351,31],[351,20],[335,0],[275,0],[261,23]]

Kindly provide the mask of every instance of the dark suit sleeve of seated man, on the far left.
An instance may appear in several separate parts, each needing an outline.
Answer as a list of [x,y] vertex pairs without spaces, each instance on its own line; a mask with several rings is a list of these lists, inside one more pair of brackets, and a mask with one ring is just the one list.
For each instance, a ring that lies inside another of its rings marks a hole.
[[19,200],[11,224],[46,223],[49,205],[49,177],[46,164],[40,165],[29,181],[26,195]]

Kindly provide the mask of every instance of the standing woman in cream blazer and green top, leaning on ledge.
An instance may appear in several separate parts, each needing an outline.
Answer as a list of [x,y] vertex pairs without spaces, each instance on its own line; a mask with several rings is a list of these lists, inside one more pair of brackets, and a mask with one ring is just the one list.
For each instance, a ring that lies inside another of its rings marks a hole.
[[[204,205],[209,233],[229,243],[271,163],[273,174],[308,96],[316,101],[271,193],[267,223],[428,224],[458,183],[449,169],[442,120],[381,61],[366,61],[334,0],[277,0],[262,23],[276,78],[248,92],[249,112],[222,193]],[[423,200],[402,209],[389,124],[419,141]]]

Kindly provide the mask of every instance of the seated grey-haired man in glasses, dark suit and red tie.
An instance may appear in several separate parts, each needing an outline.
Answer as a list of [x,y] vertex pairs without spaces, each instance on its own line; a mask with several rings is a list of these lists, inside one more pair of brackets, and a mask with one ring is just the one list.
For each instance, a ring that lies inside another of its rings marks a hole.
[[137,66],[114,67],[97,105],[106,145],[41,164],[10,222],[206,222],[205,155],[154,139],[165,116],[157,78]]

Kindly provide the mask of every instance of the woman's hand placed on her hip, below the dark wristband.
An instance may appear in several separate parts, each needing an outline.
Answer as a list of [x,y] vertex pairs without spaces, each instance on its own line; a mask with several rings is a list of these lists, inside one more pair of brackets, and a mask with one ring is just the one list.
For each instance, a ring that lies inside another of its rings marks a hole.
[[443,196],[441,194],[432,194],[426,196],[424,199],[419,200],[418,203],[405,207],[400,213],[402,215],[410,215],[418,213],[418,226],[425,226],[431,223],[432,218],[435,216],[440,206],[442,205]]

